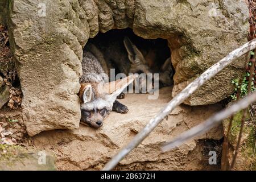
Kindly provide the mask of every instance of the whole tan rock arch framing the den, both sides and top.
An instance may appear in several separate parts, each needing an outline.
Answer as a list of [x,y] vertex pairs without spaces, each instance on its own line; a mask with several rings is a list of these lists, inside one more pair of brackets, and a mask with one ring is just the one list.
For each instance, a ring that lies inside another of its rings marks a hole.
[[[243,1],[9,1],[11,47],[23,91],[29,135],[79,127],[82,47],[98,31],[133,28],[143,38],[166,38],[176,69],[173,96],[247,41]],[[185,104],[206,105],[233,92],[244,60],[208,81]]]

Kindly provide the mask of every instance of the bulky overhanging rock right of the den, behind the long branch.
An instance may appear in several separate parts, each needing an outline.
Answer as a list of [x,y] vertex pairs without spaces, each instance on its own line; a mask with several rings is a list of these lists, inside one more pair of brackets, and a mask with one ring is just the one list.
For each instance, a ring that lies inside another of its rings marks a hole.
[[[144,38],[166,38],[175,68],[176,96],[211,65],[247,42],[249,10],[244,1],[143,1],[135,7],[133,30]],[[184,103],[213,104],[233,92],[245,59],[237,60]]]

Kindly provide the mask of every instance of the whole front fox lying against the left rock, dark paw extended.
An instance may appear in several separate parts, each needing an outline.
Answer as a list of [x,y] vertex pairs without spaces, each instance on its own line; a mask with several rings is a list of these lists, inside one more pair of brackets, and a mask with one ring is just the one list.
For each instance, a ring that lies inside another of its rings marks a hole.
[[81,123],[101,127],[111,110],[127,113],[128,108],[116,101],[122,90],[134,81],[135,76],[106,82],[100,62],[89,51],[84,51],[79,97],[81,101]]

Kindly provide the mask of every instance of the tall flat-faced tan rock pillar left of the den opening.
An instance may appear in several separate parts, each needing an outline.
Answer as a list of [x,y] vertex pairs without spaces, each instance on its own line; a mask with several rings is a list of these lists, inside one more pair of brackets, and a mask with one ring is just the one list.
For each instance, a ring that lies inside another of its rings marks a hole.
[[76,129],[82,46],[89,38],[85,17],[79,19],[79,9],[69,1],[11,1],[9,6],[28,134]]

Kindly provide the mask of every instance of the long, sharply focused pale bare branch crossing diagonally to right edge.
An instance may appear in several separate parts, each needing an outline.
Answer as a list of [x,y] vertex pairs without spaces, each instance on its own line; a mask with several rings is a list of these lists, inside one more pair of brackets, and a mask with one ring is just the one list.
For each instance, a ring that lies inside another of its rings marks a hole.
[[167,106],[165,106],[156,116],[152,118],[150,122],[140,131],[131,142],[123,148],[117,155],[115,155],[110,162],[102,170],[113,169],[120,160],[122,160],[131,150],[137,147],[150,133],[155,129],[156,126],[172,111],[176,106],[180,105],[184,100],[186,100],[196,89],[204,84],[205,81],[209,80],[220,72],[223,68],[228,66],[232,61],[238,59],[246,52],[251,51],[256,47],[256,39],[244,44],[240,48],[229,53],[228,56],[224,57],[218,63],[214,64],[212,67],[207,69],[200,77],[196,78],[191,82],[185,89],[183,89],[177,96],[175,96]]

